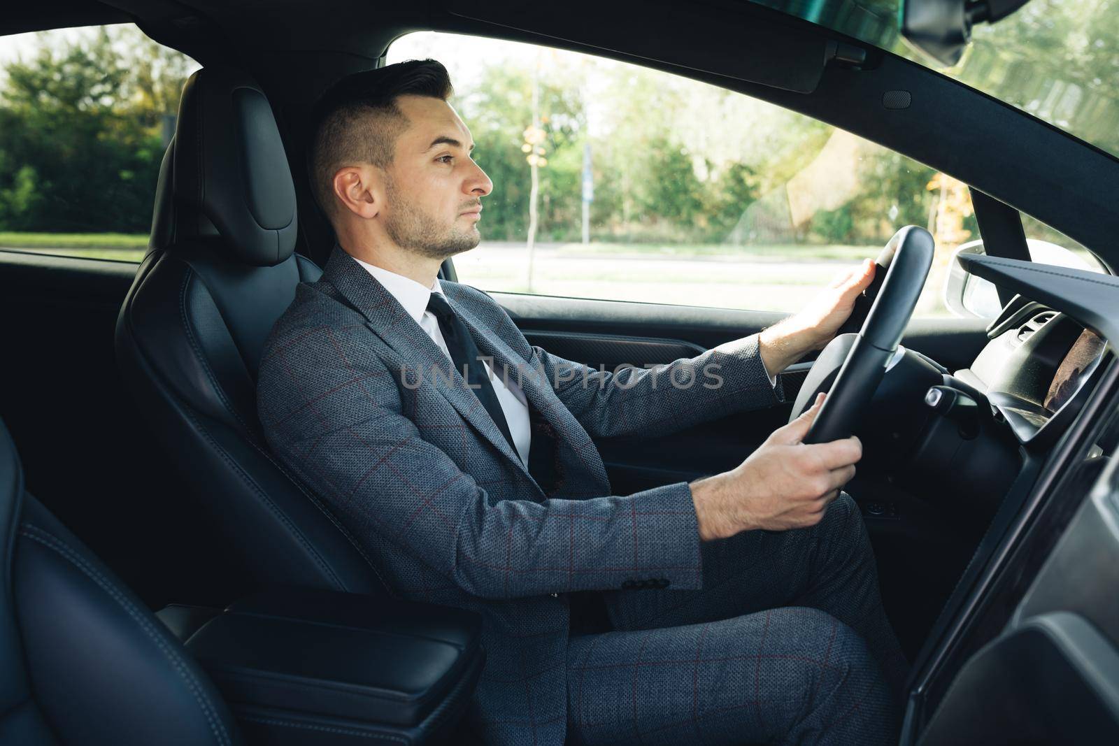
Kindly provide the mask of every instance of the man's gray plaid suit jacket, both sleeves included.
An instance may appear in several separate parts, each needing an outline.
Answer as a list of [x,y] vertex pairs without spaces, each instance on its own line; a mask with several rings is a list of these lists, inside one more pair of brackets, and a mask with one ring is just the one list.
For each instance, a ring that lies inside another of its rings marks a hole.
[[609,605],[639,593],[622,589],[637,580],[702,586],[688,485],[611,495],[592,438],[670,433],[778,395],[755,337],[660,370],[601,372],[530,346],[485,293],[442,284],[479,349],[525,371],[525,396],[554,428],[561,482],[551,498],[458,371],[450,384],[426,375],[453,366],[337,246],[321,280],[299,285],[272,330],[258,379],[261,422],[279,457],[331,507],[401,597],[481,613],[487,663],[468,718],[485,742],[560,746],[564,594],[601,591]]

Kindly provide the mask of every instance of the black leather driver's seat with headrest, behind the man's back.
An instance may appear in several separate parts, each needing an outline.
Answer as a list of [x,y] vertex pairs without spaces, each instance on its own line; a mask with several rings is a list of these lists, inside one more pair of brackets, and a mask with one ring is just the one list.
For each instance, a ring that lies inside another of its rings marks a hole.
[[228,597],[274,583],[385,594],[358,545],[271,455],[256,416],[265,338],[297,284],[321,274],[293,253],[295,214],[263,92],[236,70],[195,73],[117,319],[117,362],[192,506],[234,553],[214,578]]

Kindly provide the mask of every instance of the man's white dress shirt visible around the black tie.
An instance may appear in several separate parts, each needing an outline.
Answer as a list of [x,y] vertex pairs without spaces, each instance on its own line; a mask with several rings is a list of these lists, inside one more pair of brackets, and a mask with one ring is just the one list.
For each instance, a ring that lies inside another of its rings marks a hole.
[[[427,310],[427,301],[431,300],[432,293],[439,293],[443,298],[446,298],[443,293],[443,287],[439,284],[439,277],[435,277],[431,287],[424,287],[411,277],[389,272],[384,267],[368,264],[361,259],[356,259],[356,262],[364,266],[369,274],[377,278],[377,282],[385,286],[385,290],[393,294],[393,298],[404,306],[407,314],[420,324],[421,329],[427,332],[427,336],[439,346],[439,349],[443,350],[443,355],[448,359],[451,359],[451,353],[446,349],[446,342],[443,340],[443,331],[439,328],[439,320],[434,313]],[[486,372],[489,375],[490,384],[493,385],[493,393],[497,394],[498,404],[501,405],[501,412],[505,413],[505,421],[509,425],[509,434],[513,435],[513,442],[517,446],[517,455],[527,465],[528,447],[532,445],[533,433],[528,425],[528,400],[525,398],[525,393],[515,381],[510,380],[506,385],[501,376],[493,375],[493,369],[486,360],[482,360],[482,365],[486,366]]]

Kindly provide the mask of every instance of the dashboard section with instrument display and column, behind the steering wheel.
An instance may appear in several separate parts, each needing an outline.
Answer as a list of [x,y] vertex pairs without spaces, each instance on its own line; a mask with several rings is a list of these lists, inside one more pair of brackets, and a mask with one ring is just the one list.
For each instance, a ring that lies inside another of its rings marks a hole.
[[957,261],[1012,300],[967,368],[949,371],[913,350],[892,358],[859,437],[899,485],[989,518],[1073,428],[1098,384],[1119,378],[1119,276],[985,255]]

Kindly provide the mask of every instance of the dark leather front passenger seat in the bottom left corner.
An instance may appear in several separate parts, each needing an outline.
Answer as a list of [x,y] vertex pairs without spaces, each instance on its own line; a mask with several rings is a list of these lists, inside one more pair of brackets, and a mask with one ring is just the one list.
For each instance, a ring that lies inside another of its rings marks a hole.
[[179,641],[25,494],[2,423],[0,558],[0,744],[242,743]]

